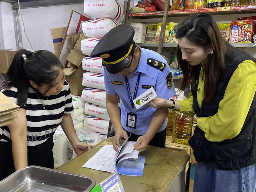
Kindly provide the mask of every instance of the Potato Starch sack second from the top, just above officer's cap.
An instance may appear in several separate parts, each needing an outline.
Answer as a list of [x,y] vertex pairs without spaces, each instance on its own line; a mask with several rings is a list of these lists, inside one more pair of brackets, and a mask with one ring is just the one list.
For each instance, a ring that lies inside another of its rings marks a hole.
[[87,37],[101,38],[114,27],[122,24],[112,19],[96,19],[83,22],[82,29]]

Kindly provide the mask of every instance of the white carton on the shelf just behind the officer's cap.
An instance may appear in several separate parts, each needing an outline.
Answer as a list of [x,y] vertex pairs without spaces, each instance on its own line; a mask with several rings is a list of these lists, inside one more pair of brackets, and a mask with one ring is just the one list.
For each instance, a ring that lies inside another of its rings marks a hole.
[[147,25],[144,23],[131,23],[130,25],[135,31],[133,41],[135,43],[144,43],[146,39]]

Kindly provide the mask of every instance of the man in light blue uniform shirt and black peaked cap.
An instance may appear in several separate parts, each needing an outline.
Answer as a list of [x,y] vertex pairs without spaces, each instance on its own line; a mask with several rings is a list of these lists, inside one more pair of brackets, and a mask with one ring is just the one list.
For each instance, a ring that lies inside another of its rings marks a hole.
[[169,99],[175,94],[166,60],[135,45],[133,36],[133,27],[119,25],[104,35],[91,52],[92,57],[102,57],[106,106],[116,132],[113,143],[116,151],[119,140],[127,139],[130,134],[128,140],[136,141],[135,150],[144,151],[148,144],[164,148],[167,108],[153,109],[146,104],[136,109],[132,101],[151,87],[160,98]]

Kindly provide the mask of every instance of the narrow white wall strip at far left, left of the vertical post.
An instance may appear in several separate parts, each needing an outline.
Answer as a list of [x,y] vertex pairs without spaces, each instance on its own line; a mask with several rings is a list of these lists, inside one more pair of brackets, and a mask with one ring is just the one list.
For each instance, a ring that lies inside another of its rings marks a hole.
[[14,18],[11,3],[0,2],[0,48],[16,50]]

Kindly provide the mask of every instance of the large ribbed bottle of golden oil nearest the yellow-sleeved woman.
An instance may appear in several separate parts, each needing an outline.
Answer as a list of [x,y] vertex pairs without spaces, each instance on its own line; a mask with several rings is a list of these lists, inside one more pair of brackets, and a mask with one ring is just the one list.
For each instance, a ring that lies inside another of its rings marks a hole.
[[175,115],[173,126],[173,140],[176,143],[187,144],[190,138],[192,117],[184,113]]

